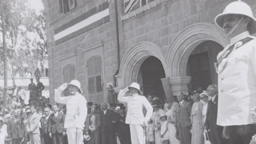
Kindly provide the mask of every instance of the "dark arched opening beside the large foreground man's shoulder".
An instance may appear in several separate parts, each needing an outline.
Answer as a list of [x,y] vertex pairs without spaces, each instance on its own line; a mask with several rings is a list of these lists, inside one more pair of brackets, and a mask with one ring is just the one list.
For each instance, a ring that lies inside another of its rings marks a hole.
[[191,52],[187,63],[187,76],[191,76],[190,90],[217,84],[218,75],[214,68],[217,55],[224,47],[214,41],[204,41]]

